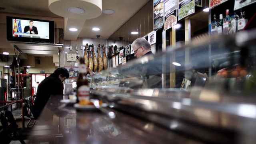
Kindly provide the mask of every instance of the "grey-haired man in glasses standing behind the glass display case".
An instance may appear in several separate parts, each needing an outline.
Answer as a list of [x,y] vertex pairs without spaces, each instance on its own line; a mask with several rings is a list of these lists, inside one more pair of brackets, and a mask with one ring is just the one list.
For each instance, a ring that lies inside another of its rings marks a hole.
[[[132,48],[136,58],[153,56],[151,45],[144,38],[137,38],[132,42]],[[138,68],[138,67],[137,67]],[[141,88],[162,88],[162,64],[147,62],[142,64],[139,70],[143,80]],[[138,88],[138,86],[137,86]]]

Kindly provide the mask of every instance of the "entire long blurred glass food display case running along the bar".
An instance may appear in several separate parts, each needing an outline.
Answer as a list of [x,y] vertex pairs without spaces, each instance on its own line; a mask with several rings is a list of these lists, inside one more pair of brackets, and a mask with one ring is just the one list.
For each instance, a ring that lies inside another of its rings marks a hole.
[[102,71],[91,94],[204,142],[253,143],[255,62],[255,30],[211,37]]

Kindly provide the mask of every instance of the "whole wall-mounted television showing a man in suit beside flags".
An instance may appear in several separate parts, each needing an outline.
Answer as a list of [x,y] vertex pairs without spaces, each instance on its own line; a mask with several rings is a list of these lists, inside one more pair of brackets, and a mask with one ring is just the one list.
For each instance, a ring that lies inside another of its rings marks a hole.
[[6,17],[7,40],[54,43],[54,21]]

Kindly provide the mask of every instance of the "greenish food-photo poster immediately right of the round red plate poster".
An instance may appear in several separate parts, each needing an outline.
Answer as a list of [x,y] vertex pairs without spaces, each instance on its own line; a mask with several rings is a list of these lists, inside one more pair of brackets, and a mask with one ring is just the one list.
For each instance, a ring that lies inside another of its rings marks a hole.
[[195,12],[194,0],[179,0],[178,20]]

